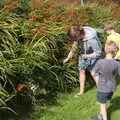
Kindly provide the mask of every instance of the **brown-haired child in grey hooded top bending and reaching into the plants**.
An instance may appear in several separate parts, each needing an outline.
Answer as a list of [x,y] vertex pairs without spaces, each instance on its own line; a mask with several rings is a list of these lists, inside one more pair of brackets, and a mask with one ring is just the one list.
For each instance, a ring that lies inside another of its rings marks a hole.
[[64,60],[64,63],[66,63],[67,61],[69,61],[69,59],[72,58],[76,49],[80,48],[78,65],[80,92],[76,94],[77,97],[84,93],[86,77],[85,71],[91,71],[97,59],[102,56],[102,47],[100,45],[100,41],[97,37],[95,29],[88,26],[71,26],[68,30],[68,36],[73,41],[73,44],[67,58]]

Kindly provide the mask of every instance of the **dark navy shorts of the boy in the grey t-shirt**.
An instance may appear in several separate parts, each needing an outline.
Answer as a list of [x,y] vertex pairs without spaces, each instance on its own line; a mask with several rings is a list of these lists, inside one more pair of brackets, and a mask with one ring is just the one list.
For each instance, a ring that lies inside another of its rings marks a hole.
[[112,96],[113,92],[110,93],[97,92],[97,101],[101,104],[104,104],[108,100],[111,100]]

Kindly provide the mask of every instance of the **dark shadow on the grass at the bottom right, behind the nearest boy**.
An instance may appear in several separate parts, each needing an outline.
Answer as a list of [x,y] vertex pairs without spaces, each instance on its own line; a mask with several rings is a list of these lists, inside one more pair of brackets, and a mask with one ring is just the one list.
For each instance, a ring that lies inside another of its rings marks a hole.
[[120,110],[120,97],[115,97],[111,100],[111,105],[108,108],[108,117],[111,120],[111,115],[113,112]]

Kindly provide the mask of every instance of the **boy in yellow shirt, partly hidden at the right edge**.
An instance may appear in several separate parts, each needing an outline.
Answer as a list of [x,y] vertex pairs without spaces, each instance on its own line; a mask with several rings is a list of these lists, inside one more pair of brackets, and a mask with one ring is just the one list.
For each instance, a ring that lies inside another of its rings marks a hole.
[[119,51],[117,52],[115,59],[120,61],[120,34],[115,31],[115,25],[112,22],[104,23],[104,29],[108,34],[107,42],[109,40],[113,40],[119,47]]

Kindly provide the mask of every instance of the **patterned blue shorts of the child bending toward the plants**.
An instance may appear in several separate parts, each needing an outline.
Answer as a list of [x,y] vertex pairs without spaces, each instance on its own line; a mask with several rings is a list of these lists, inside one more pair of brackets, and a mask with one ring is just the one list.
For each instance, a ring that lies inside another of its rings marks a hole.
[[87,60],[79,58],[78,69],[79,70],[89,70],[91,71],[97,61],[97,58]]

